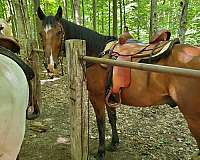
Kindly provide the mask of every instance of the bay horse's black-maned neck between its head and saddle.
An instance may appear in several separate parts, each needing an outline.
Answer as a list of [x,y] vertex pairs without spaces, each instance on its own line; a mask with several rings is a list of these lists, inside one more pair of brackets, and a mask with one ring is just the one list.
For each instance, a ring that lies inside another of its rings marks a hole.
[[114,36],[105,36],[86,27],[79,26],[65,19],[61,20],[65,30],[65,39],[86,40],[87,55],[98,56],[110,41],[117,40]]

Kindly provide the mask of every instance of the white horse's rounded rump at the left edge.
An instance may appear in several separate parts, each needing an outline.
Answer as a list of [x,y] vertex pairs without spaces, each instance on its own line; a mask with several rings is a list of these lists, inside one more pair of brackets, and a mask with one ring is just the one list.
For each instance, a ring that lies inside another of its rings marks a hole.
[[25,133],[28,84],[16,62],[0,54],[0,159],[16,159]]

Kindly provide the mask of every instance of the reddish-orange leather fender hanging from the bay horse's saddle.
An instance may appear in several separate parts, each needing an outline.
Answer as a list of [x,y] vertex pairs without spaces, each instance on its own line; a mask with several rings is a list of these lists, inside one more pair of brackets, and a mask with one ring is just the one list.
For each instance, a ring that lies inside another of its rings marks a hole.
[[[131,56],[119,56],[117,60],[131,61]],[[113,66],[113,87],[112,93],[119,93],[120,88],[129,87],[131,82],[131,69]]]

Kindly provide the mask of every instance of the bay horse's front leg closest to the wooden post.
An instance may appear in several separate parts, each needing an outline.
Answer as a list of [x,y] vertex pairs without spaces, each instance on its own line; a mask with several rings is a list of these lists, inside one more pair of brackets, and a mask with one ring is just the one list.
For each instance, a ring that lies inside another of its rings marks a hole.
[[93,105],[95,114],[97,127],[99,131],[99,148],[97,159],[104,160],[105,159],[105,102],[104,96],[91,96],[90,101]]

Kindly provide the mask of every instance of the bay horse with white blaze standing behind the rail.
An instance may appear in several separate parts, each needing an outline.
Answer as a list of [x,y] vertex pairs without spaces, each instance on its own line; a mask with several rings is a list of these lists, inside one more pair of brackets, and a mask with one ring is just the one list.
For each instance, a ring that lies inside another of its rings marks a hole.
[[[105,45],[115,37],[104,36],[88,28],[76,25],[62,18],[62,8],[59,7],[55,16],[46,16],[38,8],[38,16],[42,21],[41,38],[45,55],[50,68],[58,60],[62,43],[67,39],[82,39],[86,41],[86,55],[98,57]],[[115,52],[121,49],[130,49],[129,44],[118,46]],[[161,58],[156,64],[200,69],[200,48],[176,44],[171,53]],[[53,70],[52,70],[53,71]],[[116,127],[116,109],[106,106],[105,81],[107,70],[100,64],[90,64],[86,69],[89,99],[93,105],[99,132],[99,147],[97,159],[105,159],[105,108],[108,112],[109,123],[112,128],[110,149],[115,150],[119,144]],[[148,81],[148,82],[147,82]],[[191,93],[192,91],[192,93]],[[200,79],[172,74],[150,73],[131,69],[131,83],[122,89],[121,102],[129,106],[151,106],[170,104],[178,106],[188,123],[188,127],[200,148]],[[195,155],[200,158],[200,152]]]

